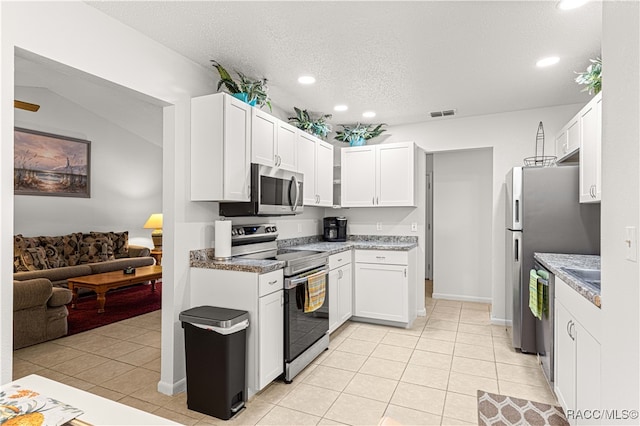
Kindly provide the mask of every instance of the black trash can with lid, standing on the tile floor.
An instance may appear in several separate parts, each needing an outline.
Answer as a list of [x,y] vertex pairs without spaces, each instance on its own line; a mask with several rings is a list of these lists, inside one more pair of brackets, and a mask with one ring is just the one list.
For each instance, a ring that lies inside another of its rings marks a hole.
[[228,420],[244,407],[249,313],[198,306],[180,313],[187,407]]

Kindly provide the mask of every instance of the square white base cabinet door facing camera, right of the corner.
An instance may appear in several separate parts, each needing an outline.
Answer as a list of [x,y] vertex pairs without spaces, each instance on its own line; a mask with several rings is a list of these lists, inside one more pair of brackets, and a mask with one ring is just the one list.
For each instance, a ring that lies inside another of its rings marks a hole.
[[407,266],[356,263],[355,315],[407,322]]

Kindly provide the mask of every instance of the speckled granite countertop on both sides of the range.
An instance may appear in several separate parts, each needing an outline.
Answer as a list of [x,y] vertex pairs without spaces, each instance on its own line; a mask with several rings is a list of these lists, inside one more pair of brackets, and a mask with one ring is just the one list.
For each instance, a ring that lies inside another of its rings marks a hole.
[[[349,237],[345,242],[323,241],[322,237],[292,238],[278,241],[278,248],[288,250],[316,250],[329,255],[356,249],[368,250],[404,250],[408,251],[418,246],[417,237],[405,236],[367,236],[357,235]],[[215,260],[214,249],[191,250],[189,252],[192,268],[223,269],[229,271],[255,272],[265,274],[284,267],[284,262],[278,260],[239,259]]]

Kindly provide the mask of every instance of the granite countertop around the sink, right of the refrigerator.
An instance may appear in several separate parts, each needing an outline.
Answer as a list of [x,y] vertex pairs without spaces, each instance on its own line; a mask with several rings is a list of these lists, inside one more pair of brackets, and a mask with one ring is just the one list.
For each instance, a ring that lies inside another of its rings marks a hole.
[[585,299],[596,305],[602,305],[600,289],[594,287],[573,275],[567,274],[561,268],[600,269],[600,256],[584,254],[535,253],[534,258],[542,263],[555,276],[567,283],[580,293]]

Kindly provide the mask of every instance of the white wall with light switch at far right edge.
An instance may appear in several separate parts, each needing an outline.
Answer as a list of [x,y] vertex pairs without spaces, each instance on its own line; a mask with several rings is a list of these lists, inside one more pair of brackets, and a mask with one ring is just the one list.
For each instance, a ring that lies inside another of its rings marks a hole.
[[624,228],[638,229],[640,219],[639,29],[638,2],[603,3],[601,396],[611,410],[640,405],[640,271],[625,259],[624,241]]

